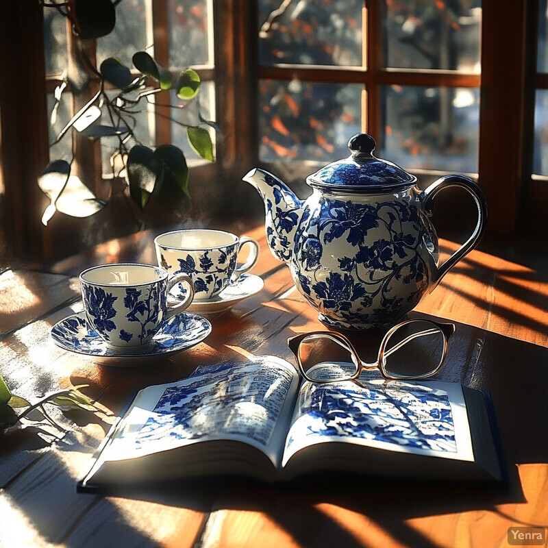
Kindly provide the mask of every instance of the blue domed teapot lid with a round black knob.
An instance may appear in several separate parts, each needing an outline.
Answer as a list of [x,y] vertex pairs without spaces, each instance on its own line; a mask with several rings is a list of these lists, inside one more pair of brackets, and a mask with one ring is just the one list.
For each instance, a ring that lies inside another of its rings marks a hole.
[[351,137],[348,158],[337,160],[309,175],[306,182],[320,188],[340,188],[351,192],[390,192],[408,188],[416,177],[404,169],[373,156],[375,139],[360,133]]

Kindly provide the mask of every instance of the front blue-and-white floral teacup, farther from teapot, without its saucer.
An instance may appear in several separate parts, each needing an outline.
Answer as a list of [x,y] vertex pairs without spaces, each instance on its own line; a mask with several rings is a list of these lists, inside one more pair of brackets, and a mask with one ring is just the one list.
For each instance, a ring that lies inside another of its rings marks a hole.
[[[110,347],[131,348],[150,343],[163,323],[185,310],[194,297],[188,275],[170,276],[151,264],[102,264],[79,276],[86,319]],[[175,299],[175,284],[188,290]]]

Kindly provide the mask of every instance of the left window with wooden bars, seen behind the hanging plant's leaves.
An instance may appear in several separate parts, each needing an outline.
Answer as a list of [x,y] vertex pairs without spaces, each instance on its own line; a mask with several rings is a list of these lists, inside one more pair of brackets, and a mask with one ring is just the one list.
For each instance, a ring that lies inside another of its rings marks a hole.
[[[199,72],[202,84],[198,105],[178,99],[174,89],[162,91],[140,99],[119,125],[134,127],[136,139],[131,144],[138,142],[155,147],[171,143],[184,151],[187,162],[200,163],[201,158],[188,144],[185,129],[189,124],[197,125],[200,115],[206,120],[214,120],[211,0],[121,1],[116,5],[114,29],[96,41],[77,40],[66,17],[58,10],[45,9],[44,14],[48,110],[56,112],[56,121],[50,129],[50,142],[97,90],[97,75],[86,60],[99,69],[105,59],[116,57],[123,65],[133,68],[134,53],[147,51],[160,66],[169,69],[173,82],[177,82],[179,73],[189,66]],[[55,94],[60,92],[60,86],[67,79],[76,89],[82,87],[81,93],[73,96],[71,86],[63,87],[60,103],[56,105]],[[107,89],[111,98],[118,93],[119,90],[113,86]],[[103,119],[101,123],[112,125]],[[93,182],[101,180],[98,173],[103,179],[112,179],[119,173],[121,162],[116,163],[113,160],[117,159],[112,158],[117,140],[117,136],[112,136],[90,143],[79,138],[77,132],[71,132],[51,147],[50,157],[70,162],[74,156],[80,177],[101,197],[105,185],[94,186]],[[95,162],[90,162],[91,157]]]

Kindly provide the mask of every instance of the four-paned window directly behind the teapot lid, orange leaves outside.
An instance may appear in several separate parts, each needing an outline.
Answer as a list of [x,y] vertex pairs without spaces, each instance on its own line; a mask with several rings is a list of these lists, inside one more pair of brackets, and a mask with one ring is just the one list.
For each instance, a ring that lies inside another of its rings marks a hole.
[[479,2],[260,5],[263,160],[343,158],[363,129],[406,169],[477,173]]

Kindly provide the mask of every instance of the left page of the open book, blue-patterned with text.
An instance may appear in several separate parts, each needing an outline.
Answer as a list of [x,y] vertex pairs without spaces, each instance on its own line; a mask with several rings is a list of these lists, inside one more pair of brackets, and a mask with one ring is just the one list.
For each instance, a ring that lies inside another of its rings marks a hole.
[[[137,458],[226,439],[254,445],[275,459],[270,448],[275,445],[277,422],[282,411],[290,417],[295,402],[295,368],[274,356],[258,356],[202,372],[141,390],[101,458]],[[277,440],[278,458],[280,445],[283,442]]]

